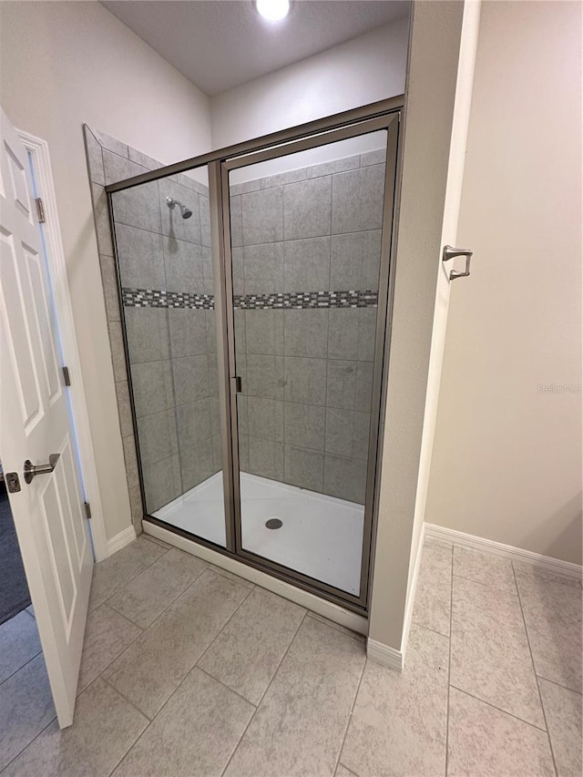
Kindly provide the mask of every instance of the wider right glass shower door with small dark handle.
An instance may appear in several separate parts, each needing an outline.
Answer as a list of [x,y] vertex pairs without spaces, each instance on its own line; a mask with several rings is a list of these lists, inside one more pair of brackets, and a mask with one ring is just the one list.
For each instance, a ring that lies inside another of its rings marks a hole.
[[226,167],[237,550],[363,601],[396,143],[356,132]]

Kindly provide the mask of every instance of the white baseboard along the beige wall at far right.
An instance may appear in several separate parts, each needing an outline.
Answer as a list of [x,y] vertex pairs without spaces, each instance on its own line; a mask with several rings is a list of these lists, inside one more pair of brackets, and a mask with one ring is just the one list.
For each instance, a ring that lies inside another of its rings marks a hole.
[[451,542],[461,547],[469,547],[472,550],[479,550],[482,553],[495,553],[497,556],[503,556],[510,561],[520,561],[531,567],[537,567],[541,571],[546,571],[551,575],[558,575],[563,578],[580,579],[583,576],[583,567],[580,564],[572,564],[569,561],[561,561],[560,558],[543,556],[540,553],[533,553],[530,550],[523,550],[520,547],[505,545],[502,542],[495,542],[493,539],[476,537],[473,534],[465,534],[463,531],[456,531],[445,527],[438,527],[435,524],[425,524],[425,537],[441,539],[444,542]]

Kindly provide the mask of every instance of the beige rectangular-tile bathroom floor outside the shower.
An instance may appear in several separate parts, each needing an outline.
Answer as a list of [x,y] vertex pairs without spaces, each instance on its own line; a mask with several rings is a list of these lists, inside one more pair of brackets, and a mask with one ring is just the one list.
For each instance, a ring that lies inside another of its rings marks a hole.
[[0,629],[0,771],[580,777],[581,598],[427,539],[397,674],[358,635],[142,536],[95,569],[71,728],[33,614]]

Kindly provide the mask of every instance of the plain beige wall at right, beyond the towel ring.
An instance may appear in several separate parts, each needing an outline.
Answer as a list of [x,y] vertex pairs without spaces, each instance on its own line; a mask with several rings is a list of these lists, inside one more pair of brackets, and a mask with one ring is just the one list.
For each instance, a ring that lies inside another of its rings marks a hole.
[[425,520],[580,564],[580,4],[483,5],[458,241]]

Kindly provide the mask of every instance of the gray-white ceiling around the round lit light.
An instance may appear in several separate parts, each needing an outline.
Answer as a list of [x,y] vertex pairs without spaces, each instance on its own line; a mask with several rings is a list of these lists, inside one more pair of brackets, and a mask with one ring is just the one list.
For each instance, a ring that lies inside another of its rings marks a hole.
[[101,0],[203,92],[218,95],[408,13],[406,0],[292,0],[270,23],[251,0]]

